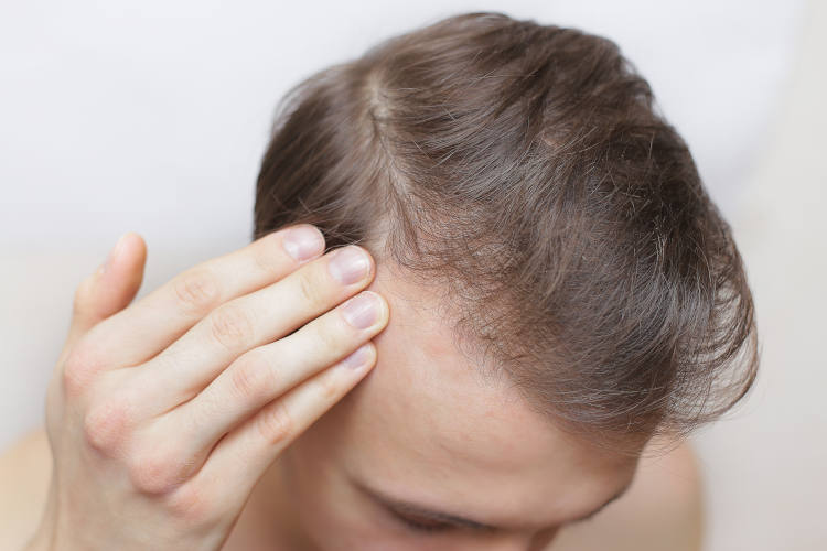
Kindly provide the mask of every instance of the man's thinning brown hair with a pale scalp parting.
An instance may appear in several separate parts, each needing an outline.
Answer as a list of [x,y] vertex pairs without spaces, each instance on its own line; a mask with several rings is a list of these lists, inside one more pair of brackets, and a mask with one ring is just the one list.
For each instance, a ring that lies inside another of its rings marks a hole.
[[466,13],[280,101],[254,239],[308,223],[443,292],[455,335],[558,426],[611,443],[719,419],[753,303],[687,144],[617,45]]

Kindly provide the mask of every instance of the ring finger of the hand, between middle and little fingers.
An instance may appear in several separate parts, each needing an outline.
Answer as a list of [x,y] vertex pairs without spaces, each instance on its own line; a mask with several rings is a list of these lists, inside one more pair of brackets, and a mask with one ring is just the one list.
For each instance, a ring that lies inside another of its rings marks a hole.
[[389,309],[364,291],[298,332],[241,355],[198,396],[159,419],[159,434],[189,435],[186,463],[197,468],[233,426],[299,382],[352,354],[387,325]]

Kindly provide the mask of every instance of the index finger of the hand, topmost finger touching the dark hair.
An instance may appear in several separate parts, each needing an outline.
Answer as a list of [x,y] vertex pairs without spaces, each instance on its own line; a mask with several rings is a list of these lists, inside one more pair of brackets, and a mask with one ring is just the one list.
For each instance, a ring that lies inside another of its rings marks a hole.
[[[308,235],[309,240],[301,237]],[[293,240],[296,238],[296,240]],[[307,244],[307,245],[302,245]],[[289,250],[301,250],[297,260]],[[152,358],[224,302],[278,281],[318,257],[324,238],[301,224],[268,234],[246,247],[180,273],[88,333],[101,364],[132,366]]]

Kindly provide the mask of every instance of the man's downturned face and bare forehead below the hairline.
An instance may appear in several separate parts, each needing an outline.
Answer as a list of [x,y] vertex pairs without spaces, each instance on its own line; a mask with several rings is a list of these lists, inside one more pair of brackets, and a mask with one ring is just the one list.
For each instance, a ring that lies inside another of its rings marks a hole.
[[379,263],[368,289],[390,307],[376,366],[275,469],[294,549],[539,551],[629,486],[636,457],[557,430],[506,378],[482,377],[438,295]]

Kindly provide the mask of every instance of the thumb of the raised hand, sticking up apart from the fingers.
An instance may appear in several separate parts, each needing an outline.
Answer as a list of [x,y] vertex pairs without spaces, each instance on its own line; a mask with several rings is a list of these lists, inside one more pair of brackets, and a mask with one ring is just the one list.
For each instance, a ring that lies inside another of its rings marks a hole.
[[75,291],[68,345],[132,302],[143,281],[146,261],[141,236],[129,231],[118,239],[106,261]]

